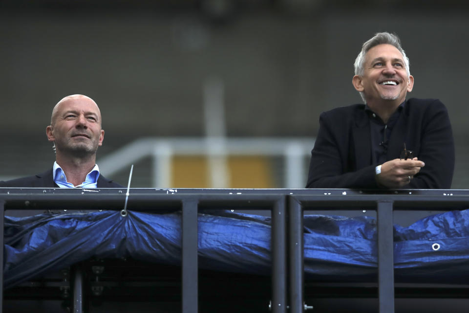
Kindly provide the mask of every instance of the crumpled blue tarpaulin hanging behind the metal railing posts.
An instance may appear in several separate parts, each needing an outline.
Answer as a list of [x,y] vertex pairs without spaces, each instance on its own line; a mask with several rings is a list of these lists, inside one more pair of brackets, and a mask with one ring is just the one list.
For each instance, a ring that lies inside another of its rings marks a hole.
[[[469,210],[432,215],[408,227],[395,225],[394,229],[398,279],[425,281],[437,275],[455,282],[464,276],[469,265]],[[119,211],[5,217],[4,230],[5,288],[92,257],[181,263],[178,212],[128,212],[126,217]],[[229,211],[201,213],[199,265],[269,275],[270,238],[269,217]],[[373,218],[306,215],[306,277],[348,281],[376,276],[376,240]]]

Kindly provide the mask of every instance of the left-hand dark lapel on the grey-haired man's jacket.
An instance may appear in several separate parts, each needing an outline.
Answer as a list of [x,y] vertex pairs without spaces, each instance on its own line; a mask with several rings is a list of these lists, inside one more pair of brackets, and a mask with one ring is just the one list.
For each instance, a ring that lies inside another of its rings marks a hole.
[[370,120],[364,106],[355,112],[355,125],[352,130],[355,147],[355,169],[361,169],[371,162]]

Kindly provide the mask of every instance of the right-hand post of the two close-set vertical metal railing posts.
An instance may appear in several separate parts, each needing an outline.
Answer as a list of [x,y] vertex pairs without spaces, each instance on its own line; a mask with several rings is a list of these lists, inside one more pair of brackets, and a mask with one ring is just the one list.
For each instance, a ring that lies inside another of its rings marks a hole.
[[303,250],[303,210],[301,204],[289,197],[289,251],[290,251],[290,313],[304,311],[304,250]]

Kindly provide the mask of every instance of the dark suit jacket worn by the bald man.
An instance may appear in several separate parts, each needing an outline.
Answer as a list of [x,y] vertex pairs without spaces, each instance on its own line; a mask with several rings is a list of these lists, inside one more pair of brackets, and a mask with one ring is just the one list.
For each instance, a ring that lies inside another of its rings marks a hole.
[[[96,183],[98,188],[123,188],[122,185],[112,181],[111,179],[107,179],[101,174],[99,175],[98,181]],[[7,181],[0,181],[0,187],[59,188],[59,186],[54,182],[52,168],[42,174]]]

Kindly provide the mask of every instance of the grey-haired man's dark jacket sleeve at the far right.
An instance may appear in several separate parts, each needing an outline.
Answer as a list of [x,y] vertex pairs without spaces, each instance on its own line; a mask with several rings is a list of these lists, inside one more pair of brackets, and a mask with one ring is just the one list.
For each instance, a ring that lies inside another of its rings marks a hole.
[[448,110],[433,100],[422,123],[419,160],[425,166],[410,181],[411,189],[449,189],[454,172],[454,140]]

